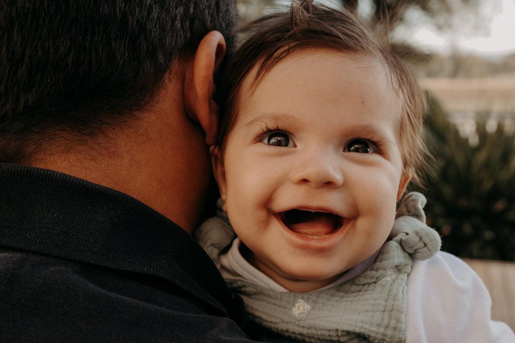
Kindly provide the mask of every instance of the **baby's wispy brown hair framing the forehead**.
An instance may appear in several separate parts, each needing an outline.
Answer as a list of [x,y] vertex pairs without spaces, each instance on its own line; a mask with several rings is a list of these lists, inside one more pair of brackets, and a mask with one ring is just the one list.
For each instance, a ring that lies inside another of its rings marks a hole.
[[366,55],[382,61],[402,100],[400,127],[403,172],[422,186],[423,170],[431,155],[423,139],[425,98],[411,70],[390,48],[387,32],[372,29],[354,12],[336,10],[313,1],[292,1],[289,12],[266,15],[239,29],[247,39],[228,62],[219,97],[221,118],[217,145],[223,153],[227,135],[238,117],[238,97],[245,77],[254,66],[257,73],[251,88],[257,87],[268,71],[296,51],[319,48]]

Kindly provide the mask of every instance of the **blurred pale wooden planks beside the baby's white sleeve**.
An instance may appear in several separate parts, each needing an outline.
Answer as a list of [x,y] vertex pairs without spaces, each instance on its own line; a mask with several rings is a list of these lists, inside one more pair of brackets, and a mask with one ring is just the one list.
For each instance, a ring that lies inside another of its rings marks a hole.
[[515,331],[515,262],[463,259],[483,280],[492,297],[492,319]]

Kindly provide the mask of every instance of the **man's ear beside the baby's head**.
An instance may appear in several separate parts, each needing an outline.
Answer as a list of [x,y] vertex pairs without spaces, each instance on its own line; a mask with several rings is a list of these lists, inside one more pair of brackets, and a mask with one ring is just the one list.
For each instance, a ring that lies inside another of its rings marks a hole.
[[184,81],[186,113],[200,123],[208,145],[215,142],[218,106],[213,100],[213,73],[224,59],[226,43],[222,34],[211,31],[200,41],[193,63],[187,64]]

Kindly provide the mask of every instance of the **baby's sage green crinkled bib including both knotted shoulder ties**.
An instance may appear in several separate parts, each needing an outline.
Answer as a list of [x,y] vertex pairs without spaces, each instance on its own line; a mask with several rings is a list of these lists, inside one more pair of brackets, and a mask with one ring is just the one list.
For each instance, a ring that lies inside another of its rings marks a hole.
[[250,264],[241,263],[234,242],[227,252],[235,236],[220,203],[218,216],[203,223],[195,236],[230,289],[244,299],[258,327],[256,337],[267,341],[401,342],[412,256],[427,259],[440,248],[436,231],[421,221],[425,219],[424,205],[422,194],[408,194],[393,224],[391,240],[377,256],[349,269],[331,287],[309,293],[285,292]]

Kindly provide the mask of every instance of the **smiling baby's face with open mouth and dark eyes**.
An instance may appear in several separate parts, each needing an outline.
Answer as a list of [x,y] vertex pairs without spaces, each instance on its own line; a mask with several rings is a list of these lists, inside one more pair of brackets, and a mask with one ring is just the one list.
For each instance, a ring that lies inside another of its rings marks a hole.
[[388,237],[408,178],[401,101],[376,59],[307,50],[273,67],[239,114],[217,170],[249,261],[290,291],[329,284]]

